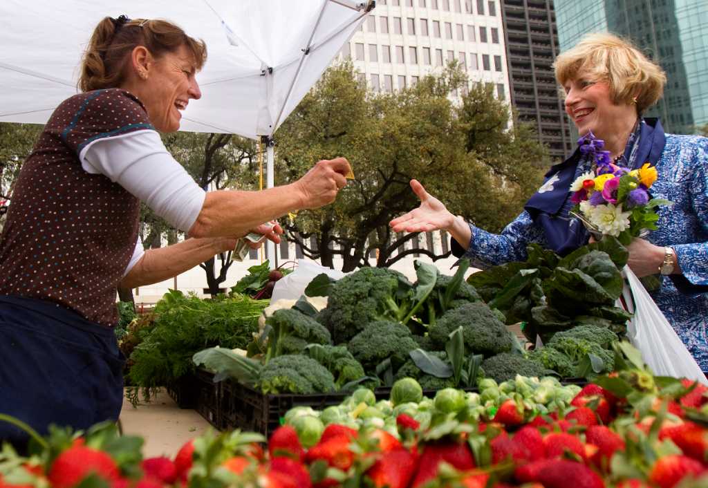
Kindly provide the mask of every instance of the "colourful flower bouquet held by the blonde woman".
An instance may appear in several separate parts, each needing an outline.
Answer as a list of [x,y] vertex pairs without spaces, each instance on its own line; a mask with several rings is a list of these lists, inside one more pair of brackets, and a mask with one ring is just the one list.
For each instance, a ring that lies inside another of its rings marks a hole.
[[603,235],[617,237],[628,245],[634,237],[655,230],[658,215],[654,209],[670,205],[670,201],[651,198],[649,188],[656,181],[656,168],[644,163],[640,169],[630,170],[610,160],[610,152],[603,151],[605,141],[588,132],[578,140],[583,154],[595,162],[594,170],[581,174],[571,185],[571,211],[599,240]]

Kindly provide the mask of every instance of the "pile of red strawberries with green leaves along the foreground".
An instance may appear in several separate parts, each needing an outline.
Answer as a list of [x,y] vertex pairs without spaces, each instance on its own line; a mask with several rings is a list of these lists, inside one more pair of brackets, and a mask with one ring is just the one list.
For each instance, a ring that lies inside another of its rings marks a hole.
[[326,426],[303,448],[292,426],[267,443],[207,433],[176,458],[142,460],[142,440],[97,426],[54,431],[35,454],[0,453],[0,488],[708,486],[708,388],[629,369],[583,387],[566,412],[538,416],[508,400],[471,424],[454,414],[430,428],[405,414],[398,435]]

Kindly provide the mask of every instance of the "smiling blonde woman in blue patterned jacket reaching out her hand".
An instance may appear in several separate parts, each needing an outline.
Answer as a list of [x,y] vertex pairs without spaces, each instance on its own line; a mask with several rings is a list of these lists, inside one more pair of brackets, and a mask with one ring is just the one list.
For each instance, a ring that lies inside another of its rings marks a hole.
[[[661,274],[661,288],[652,297],[708,371],[708,139],[666,134],[658,119],[644,118],[644,111],[661,98],[666,75],[615,35],[586,35],[556,58],[555,73],[565,92],[566,113],[581,136],[592,132],[604,140],[603,149],[619,166],[639,169],[649,162],[656,167],[651,195],[673,205],[658,208],[658,230],[629,245],[628,264],[639,277]],[[396,232],[445,229],[452,234],[453,252],[481,268],[524,260],[532,242],[568,254],[590,237],[569,210],[571,183],[592,164],[592,157],[578,148],[552,166],[525,210],[501,234],[455,217],[416,180],[411,188],[421,205],[391,225]]]

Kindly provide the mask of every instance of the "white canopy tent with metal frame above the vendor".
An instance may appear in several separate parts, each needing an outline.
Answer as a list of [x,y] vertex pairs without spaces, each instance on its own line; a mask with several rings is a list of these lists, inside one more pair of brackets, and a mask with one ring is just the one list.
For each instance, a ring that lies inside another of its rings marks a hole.
[[[98,21],[164,18],[205,40],[202,98],[181,130],[272,137],[349,40],[372,0],[3,0],[0,122],[45,123],[77,92],[79,62]],[[269,243],[272,244],[272,243]],[[268,254],[275,255],[275,246]]]

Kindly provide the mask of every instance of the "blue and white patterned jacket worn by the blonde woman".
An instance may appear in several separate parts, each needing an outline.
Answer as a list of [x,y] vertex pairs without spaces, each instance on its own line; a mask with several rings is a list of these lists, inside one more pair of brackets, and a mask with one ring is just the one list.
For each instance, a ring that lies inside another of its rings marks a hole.
[[[578,164],[576,174],[582,171],[583,164]],[[652,296],[698,365],[708,371],[708,293],[705,288],[690,289],[690,285],[708,285],[708,139],[666,134],[666,146],[656,171],[658,178],[651,188],[652,195],[671,200],[674,205],[658,209],[659,229],[649,235],[649,240],[676,251],[686,283],[680,292],[671,279],[664,277],[661,289]],[[567,218],[569,208],[570,205],[563,205],[558,217]],[[472,239],[464,256],[479,268],[523,261],[527,244],[547,244],[543,229],[527,211],[501,234],[491,234],[474,225],[470,229]]]

